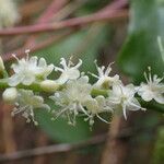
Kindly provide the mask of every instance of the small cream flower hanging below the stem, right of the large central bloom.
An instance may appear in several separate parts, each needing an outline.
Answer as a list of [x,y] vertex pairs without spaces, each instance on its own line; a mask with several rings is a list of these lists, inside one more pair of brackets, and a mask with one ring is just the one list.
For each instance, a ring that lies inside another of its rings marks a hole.
[[90,126],[94,124],[94,117],[96,116],[104,122],[107,122],[104,118],[99,116],[101,113],[107,113],[107,112],[113,112],[113,109],[107,106],[106,99],[104,96],[99,95],[96,96],[95,98],[90,98],[87,102],[85,102],[85,106],[87,108],[89,117],[85,120],[90,121]]

